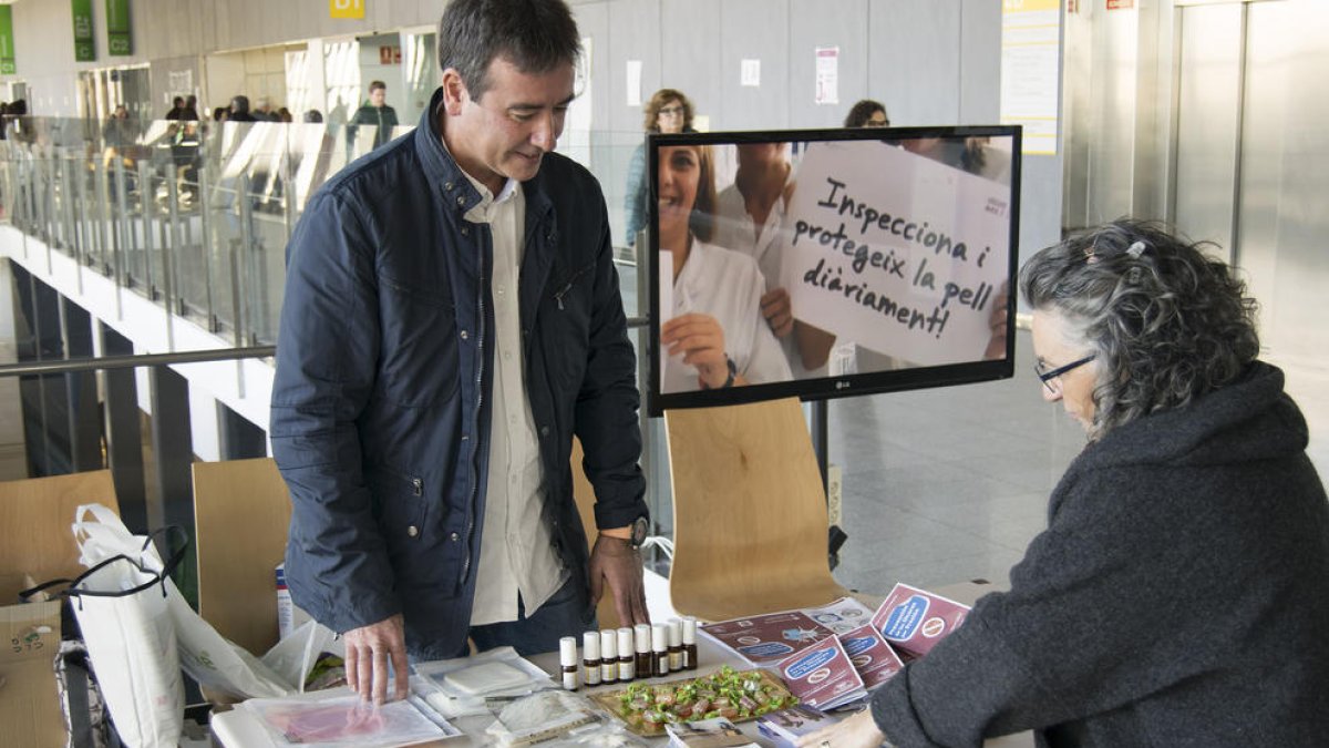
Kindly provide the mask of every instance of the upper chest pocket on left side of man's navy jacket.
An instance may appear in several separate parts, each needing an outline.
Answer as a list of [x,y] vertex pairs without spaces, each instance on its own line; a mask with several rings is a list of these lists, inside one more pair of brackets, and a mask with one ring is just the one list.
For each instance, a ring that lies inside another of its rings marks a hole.
[[445,291],[380,278],[379,385],[381,397],[428,407],[457,391],[457,321]]

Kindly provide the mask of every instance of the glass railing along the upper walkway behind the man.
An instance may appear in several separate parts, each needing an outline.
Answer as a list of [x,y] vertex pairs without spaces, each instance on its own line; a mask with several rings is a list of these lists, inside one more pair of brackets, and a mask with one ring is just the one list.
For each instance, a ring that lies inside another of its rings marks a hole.
[[[5,129],[0,200],[15,226],[234,345],[276,342],[287,240],[318,188],[376,136],[372,125],[44,117]],[[622,237],[641,134],[563,142],[599,177]],[[626,246],[615,256],[638,317],[635,257]]]

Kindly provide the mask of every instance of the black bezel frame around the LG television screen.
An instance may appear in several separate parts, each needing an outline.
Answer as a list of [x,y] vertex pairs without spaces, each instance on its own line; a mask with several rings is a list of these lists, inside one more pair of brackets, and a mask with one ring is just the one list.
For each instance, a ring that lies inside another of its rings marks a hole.
[[[743,142],[817,142],[844,140],[894,140],[910,137],[1009,137],[1011,140],[1010,158],[1010,261],[1007,278],[1010,293],[1006,299],[1006,355],[995,361],[970,361],[944,366],[918,366],[886,371],[870,371],[843,377],[819,377],[815,379],[789,379],[742,387],[716,390],[690,390],[684,393],[662,393],[661,361],[657,353],[661,335],[659,285],[659,238],[654,226],[659,225],[658,205],[658,153],[666,145],[736,145]],[[650,189],[650,222],[647,224],[650,274],[647,276],[649,338],[646,355],[650,358],[649,381],[646,386],[647,413],[659,417],[666,410],[687,407],[715,407],[768,399],[797,397],[801,401],[821,401],[855,395],[948,387],[974,382],[1010,379],[1015,373],[1015,273],[1019,266],[1019,189],[1021,189],[1021,148],[1022,129],[1019,125],[964,125],[964,126],[914,126],[914,128],[856,128],[856,129],[789,129],[789,130],[743,130],[710,133],[650,133],[646,138],[647,182]]]

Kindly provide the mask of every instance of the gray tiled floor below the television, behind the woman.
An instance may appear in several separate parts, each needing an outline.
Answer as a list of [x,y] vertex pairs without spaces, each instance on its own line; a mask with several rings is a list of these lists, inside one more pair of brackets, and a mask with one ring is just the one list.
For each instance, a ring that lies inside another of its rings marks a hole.
[[[1009,580],[1084,446],[1061,405],[1043,402],[1027,331],[1015,349],[1009,381],[832,402],[831,461],[844,471],[849,532],[841,584],[885,594],[896,582]],[[1285,369],[1310,425],[1310,458],[1329,475],[1329,369],[1267,358]]]

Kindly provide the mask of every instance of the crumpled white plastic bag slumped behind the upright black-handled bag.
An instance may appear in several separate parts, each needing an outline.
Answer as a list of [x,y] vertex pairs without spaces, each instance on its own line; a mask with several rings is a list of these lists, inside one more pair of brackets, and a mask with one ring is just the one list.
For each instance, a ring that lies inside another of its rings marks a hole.
[[[101,506],[84,504],[74,511],[74,540],[80,563],[94,566],[124,555],[142,566],[161,568],[157,550],[146,538],[134,535],[120,516]],[[229,642],[203,620],[166,579],[166,608],[179,644],[179,664],[199,685],[235,699],[279,697],[294,691],[292,684],[272,672],[250,652]],[[94,663],[96,667],[96,663]]]

